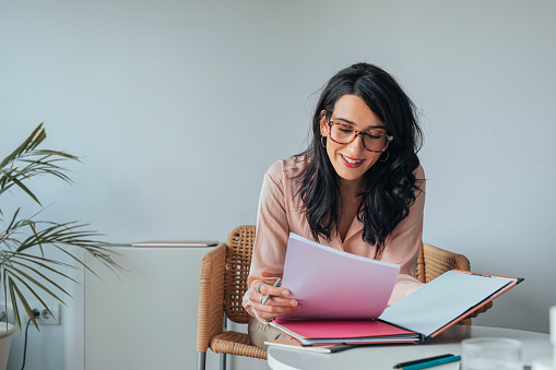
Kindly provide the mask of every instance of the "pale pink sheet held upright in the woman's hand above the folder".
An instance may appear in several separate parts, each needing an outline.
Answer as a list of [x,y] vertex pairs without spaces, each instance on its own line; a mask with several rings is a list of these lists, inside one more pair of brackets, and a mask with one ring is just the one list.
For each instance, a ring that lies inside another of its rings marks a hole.
[[386,309],[400,265],[289,234],[282,286],[299,309],[279,319],[375,319]]

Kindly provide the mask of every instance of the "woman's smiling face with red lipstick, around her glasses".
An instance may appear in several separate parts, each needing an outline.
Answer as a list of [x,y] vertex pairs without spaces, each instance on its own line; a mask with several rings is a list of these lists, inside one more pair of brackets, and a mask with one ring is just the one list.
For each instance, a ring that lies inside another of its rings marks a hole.
[[[324,115],[323,115],[324,116]],[[363,132],[380,132],[386,134],[387,128],[370,110],[365,102],[356,96],[346,94],[340,97],[335,105],[332,121],[341,121],[346,126]],[[330,140],[329,126],[326,117],[320,120],[320,132],[327,136],[327,153],[341,183],[360,187],[363,175],[375,165],[381,153],[367,151],[363,146],[363,138],[357,135],[350,144],[339,144]]]

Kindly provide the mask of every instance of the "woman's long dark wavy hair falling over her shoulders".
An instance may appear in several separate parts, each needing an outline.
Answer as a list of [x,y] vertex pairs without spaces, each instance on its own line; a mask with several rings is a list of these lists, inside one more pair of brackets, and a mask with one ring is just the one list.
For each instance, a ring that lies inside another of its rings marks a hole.
[[375,258],[380,259],[386,241],[395,226],[410,212],[416,192],[421,191],[413,174],[419,166],[417,152],[423,143],[416,108],[395,80],[380,68],[356,63],[334,75],[323,88],[312,118],[312,139],[308,148],[297,157],[306,156],[308,165],[296,179],[299,183],[304,211],[312,237],[330,240],[340,222],[340,179],[326,147],[321,144],[321,111],[329,115],[336,100],[346,94],[360,97],[386,124],[393,141],[365,176],[365,188],[357,212],[363,223],[363,239],[376,246]]

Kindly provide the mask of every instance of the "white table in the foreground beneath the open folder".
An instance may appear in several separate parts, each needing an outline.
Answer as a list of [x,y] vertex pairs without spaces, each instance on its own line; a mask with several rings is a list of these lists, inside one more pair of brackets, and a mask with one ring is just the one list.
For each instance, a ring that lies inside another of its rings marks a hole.
[[[273,370],[390,370],[395,363],[418,358],[453,354],[461,355],[460,342],[469,337],[506,337],[523,343],[523,362],[551,356],[548,334],[511,329],[454,325],[424,344],[372,345],[335,354],[315,354],[303,350],[270,347],[268,363]],[[446,363],[435,370],[457,370],[459,362]]]

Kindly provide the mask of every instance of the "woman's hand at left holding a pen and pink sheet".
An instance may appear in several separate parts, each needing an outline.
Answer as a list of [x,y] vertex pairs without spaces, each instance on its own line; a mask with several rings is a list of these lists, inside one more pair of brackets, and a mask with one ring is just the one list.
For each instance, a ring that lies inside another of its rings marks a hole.
[[[262,305],[267,295],[270,295],[270,299]],[[257,279],[251,283],[249,300],[257,315],[265,321],[271,321],[277,315],[294,312],[299,308],[299,306],[297,306],[297,300],[288,299],[286,298],[287,296],[289,296],[289,290]]]

